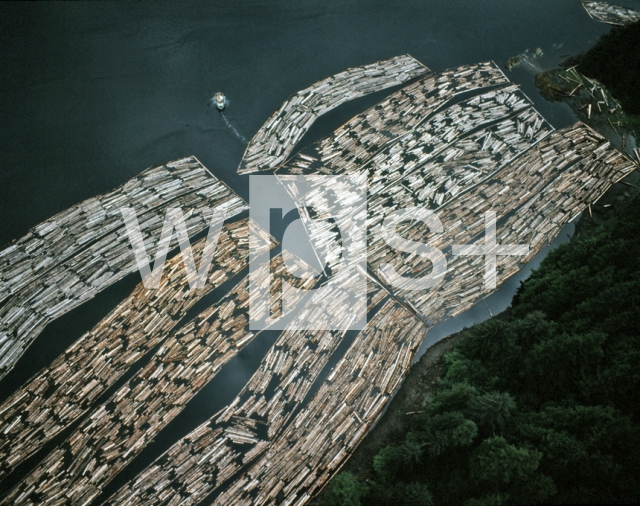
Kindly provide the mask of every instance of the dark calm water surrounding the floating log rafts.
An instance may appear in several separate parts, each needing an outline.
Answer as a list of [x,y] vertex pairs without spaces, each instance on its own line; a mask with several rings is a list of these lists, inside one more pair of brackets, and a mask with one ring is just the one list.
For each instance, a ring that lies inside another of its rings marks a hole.
[[[638,0],[623,3],[640,8]],[[540,47],[537,65],[550,68],[609,29],[578,0],[238,4],[0,4],[0,245],[146,167],[191,154],[248,199],[248,177],[235,172],[241,138],[250,139],[290,94],[348,67],[403,53],[434,70],[486,60],[504,65]],[[509,76],[555,127],[573,123],[568,108],[538,95],[538,70],[517,68]],[[227,122],[207,107],[216,91],[231,102]],[[310,135],[329,133],[367,103],[339,108]],[[1,396],[99,321],[137,281],[136,273],[51,324],[0,384]],[[517,283],[488,301],[494,313]],[[485,316],[481,302],[438,332]],[[230,364],[128,474],[231,400],[268,341]]]

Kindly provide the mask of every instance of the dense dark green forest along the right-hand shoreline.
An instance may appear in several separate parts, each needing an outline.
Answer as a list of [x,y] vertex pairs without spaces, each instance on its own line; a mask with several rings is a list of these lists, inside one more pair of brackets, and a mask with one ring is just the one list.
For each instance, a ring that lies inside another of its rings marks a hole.
[[[638,40],[639,24],[614,29],[579,58],[632,113]],[[508,311],[462,332],[404,438],[337,475],[324,505],[640,501],[640,199],[617,193]]]

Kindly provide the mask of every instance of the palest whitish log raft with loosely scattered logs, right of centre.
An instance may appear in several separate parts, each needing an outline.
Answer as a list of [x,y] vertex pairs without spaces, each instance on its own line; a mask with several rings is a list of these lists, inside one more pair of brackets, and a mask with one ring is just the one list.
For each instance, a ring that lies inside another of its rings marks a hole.
[[[352,183],[366,182],[368,186],[367,226],[378,225],[369,235],[379,232],[382,219],[392,210],[404,209],[409,203],[433,209],[457,198],[552,131],[513,86],[482,93],[432,115],[413,131],[389,140],[368,162],[347,174]],[[286,173],[295,163],[283,166],[277,174]],[[292,183],[284,175],[282,183],[293,195]],[[317,248],[320,244],[337,245],[328,256],[329,266],[334,269],[341,261],[338,232],[328,226],[326,218],[339,217],[346,233],[361,224],[342,215],[324,191],[314,191],[313,185],[311,188],[297,198],[297,203],[302,209],[312,207],[319,218],[305,220],[312,244]],[[396,196],[405,194],[412,195],[410,202],[394,202]],[[345,186],[336,195],[348,200],[349,189]]]

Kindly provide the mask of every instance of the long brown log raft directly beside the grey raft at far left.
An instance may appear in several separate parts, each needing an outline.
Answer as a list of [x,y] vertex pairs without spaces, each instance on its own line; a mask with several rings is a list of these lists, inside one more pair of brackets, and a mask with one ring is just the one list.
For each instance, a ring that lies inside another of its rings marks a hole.
[[[204,244],[201,239],[193,245],[196,259]],[[189,308],[246,268],[248,260],[248,219],[225,225],[203,289],[190,289],[182,257],[176,255],[165,264],[157,289],[148,290],[140,283],[51,366],[9,397],[0,406],[0,477],[85,414],[96,398],[169,334]]]

